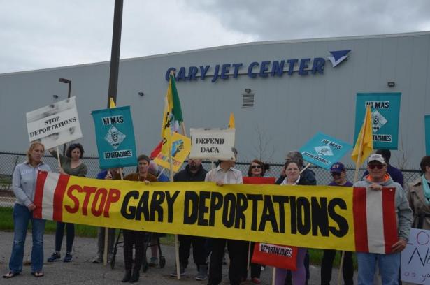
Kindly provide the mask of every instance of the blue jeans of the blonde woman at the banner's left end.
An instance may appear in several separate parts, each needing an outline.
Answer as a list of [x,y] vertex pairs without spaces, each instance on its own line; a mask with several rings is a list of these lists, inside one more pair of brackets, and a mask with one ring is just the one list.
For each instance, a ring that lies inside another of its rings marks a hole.
[[31,233],[33,235],[31,272],[41,271],[43,268],[43,232],[45,231],[45,220],[34,219],[33,213],[27,207],[15,203],[13,207],[13,228],[15,235],[13,236],[12,254],[9,261],[9,269],[14,273],[22,271],[24,242],[29,221],[31,221]]

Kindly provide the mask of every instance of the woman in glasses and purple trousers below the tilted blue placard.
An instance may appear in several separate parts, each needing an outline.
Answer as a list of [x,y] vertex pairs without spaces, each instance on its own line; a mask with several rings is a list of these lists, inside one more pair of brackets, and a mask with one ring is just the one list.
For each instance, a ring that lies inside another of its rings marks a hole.
[[[302,177],[300,174],[301,165],[300,161],[296,161],[293,159],[287,159],[285,162],[285,174],[287,177],[282,181],[281,185],[310,185],[306,178]],[[305,268],[305,256],[306,256],[306,248],[298,247],[297,248],[297,270],[292,272],[292,284],[294,285],[303,285],[306,284],[306,268]],[[276,268],[275,270],[275,285],[284,285],[285,278],[287,277],[287,272],[284,268]]]

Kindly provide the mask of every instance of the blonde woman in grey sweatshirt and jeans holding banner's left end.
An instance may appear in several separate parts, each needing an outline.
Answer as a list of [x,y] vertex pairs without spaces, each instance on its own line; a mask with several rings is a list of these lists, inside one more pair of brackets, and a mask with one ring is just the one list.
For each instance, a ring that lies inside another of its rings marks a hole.
[[33,217],[34,193],[36,192],[36,180],[39,170],[51,171],[51,168],[42,162],[45,147],[40,142],[33,142],[27,152],[27,161],[15,167],[12,176],[13,193],[16,202],[13,206],[13,247],[9,261],[9,272],[3,278],[13,278],[22,271],[22,259],[24,258],[24,242],[27,235],[27,227],[31,221],[33,235],[33,248],[31,249],[31,274],[35,277],[43,277],[43,232],[45,220]]

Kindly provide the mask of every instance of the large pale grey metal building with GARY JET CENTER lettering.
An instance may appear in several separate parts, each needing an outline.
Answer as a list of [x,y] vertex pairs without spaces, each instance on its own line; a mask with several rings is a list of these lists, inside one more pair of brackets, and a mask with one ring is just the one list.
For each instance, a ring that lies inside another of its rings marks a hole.
[[[392,163],[417,168],[430,113],[429,66],[430,32],[211,47],[120,61],[117,105],[131,105],[138,152],[148,154],[160,140],[166,74],[175,68],[188,131],[226,127],[234,112],[239,160],[281,163],[317,131],[352,144],[357,92],[401,92]],[[0,74],[0,151],[27,149],[25,113],[66,98],[58,79],[67,78],[80,142],[96,155],[90,112],[106,108],[108,77],[108,62]]]

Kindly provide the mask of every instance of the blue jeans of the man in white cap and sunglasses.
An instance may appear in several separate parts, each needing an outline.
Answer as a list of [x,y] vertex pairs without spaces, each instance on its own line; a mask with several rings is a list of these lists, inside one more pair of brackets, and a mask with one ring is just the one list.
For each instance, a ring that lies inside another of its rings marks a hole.
[[383,285],[399,284],[400,254],[365,254],[357,252],[358,284],[372,285],[375,275],[376,261]]

